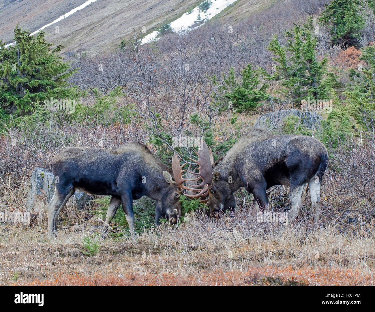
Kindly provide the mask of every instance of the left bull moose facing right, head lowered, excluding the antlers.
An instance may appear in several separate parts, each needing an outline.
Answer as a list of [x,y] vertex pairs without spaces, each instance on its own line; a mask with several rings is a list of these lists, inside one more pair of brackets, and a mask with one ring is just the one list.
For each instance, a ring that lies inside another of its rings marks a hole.
[[52,160],[58,177],[54,195],[47,205],[48,233],[57,231],[57,217],[75,190],[93,195],[111,195],[103,233],[122,204],[134,237],[133,199],[146,195],[156,203],[156,222],[165,217],[171,224],[181,216],[181,189],[172,171],[156,159],[148,147],[129,142],[117,148],[71,147]]

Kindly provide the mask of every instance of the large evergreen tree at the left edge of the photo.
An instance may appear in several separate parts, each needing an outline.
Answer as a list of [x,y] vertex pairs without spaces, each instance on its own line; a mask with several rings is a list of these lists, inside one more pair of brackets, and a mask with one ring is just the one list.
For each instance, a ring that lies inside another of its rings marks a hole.
[[69,63],[58,56],[63,46],[51,49],[43,32],[36,37],[30,31],[16,27],[14,46],[5,47],[0,40],[0,104],[2,113],[27,113],[38,100],[78,99],[78,87],[67,79]]

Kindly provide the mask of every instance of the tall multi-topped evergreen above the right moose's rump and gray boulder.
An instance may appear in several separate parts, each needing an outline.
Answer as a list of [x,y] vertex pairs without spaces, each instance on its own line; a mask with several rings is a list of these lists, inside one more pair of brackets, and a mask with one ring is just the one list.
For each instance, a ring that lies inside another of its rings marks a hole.
[[296,104],[308,97],[327,99],[332,89],[339,85],[336,76],[328,72],[327,58],[318,61],[315,47],[317,38],[312,31],[312,17],[303,26],[294,25],[287,31],[286,46],[282,46],[276,36],[267,49],[273,52],[273,74],[260,69],[263,77],[277,81],[280,88],[275,90],[282,100],[289,97]]

